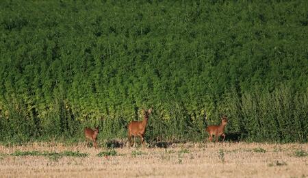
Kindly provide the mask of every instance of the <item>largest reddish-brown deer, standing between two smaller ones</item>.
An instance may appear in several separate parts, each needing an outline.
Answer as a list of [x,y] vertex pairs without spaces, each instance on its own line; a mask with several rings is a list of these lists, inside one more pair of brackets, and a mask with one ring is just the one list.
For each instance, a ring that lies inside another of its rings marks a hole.
[[133,147],[134,142],[131,143],[131,137],[132,136],[138,136],[141,139],[141,144],[143,145],[144,148],[144,134],[146,132],[146,124],[148,123],[149,120],[149,115],[152,112],[152,108],[149,110],[144,110],[142,109],[142,114],[143,114],[143,120],[142,121],[131,121],[128,125],[128,140],[130,147]]

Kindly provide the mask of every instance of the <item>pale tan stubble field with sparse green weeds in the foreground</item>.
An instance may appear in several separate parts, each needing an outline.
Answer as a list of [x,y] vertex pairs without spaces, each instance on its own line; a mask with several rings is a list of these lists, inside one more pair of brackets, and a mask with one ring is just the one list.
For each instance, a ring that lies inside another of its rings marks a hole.
[[[308,144],[0,145],[0,177],[308,177]],[[168,146],[168,147],[165,147]]]

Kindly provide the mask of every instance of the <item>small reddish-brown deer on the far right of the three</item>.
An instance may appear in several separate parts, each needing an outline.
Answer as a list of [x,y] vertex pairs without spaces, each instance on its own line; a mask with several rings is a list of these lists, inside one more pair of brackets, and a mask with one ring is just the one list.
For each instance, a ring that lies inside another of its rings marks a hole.
[[[222,116],[220,125],[210,125],[207,127],[206,131],[209,133],[209,141],[213,140],[213,135],[216,138],[216,142],[218,142],[218,138],[220,136],[223,136],[226,138],[226,134],[224,134],[224,127],[226,127],[228,123],[227,116]],[[224,138],[222,139],[222,142],[224,141]]]

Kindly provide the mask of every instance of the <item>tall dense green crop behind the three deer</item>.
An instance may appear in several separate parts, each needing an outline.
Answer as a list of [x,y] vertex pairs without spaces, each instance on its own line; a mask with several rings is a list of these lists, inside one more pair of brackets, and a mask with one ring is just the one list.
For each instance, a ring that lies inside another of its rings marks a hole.
[[[0,141],[307,142],[307,1],[0,2]],[[229,134],[228,134],[229,133]]]

